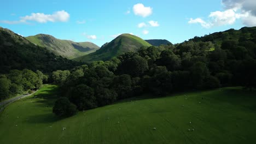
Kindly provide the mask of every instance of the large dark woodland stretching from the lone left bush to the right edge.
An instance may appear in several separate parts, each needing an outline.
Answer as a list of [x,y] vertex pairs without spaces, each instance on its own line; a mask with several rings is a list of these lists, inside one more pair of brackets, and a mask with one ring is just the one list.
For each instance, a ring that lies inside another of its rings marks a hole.
[[[214,49],[214,50],[213,50]],[[211,51],[213,50],[213,51]],[[185,41],[175,46],[141,47],[107,62],[94,62],[51,76],[62,88],[53,112],[74,115],[115,100],[153,93],[156,97],[178,91],[226,86],[256,87],[256,44],[251,38]]]

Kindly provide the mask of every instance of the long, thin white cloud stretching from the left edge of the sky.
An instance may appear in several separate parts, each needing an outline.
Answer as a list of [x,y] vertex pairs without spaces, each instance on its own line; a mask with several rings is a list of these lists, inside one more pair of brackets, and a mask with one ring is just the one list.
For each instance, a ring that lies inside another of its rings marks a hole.
[[0,21],[1,23],[7,24],[18,24],[18,23],[28,23],[27,21],[36,21],[39,23],[50,22],[66,22],[69,20],[70,15],[65,11],[56,11],[53,14],[44,14],[44,13],[32,13],[31,15],[26,15],[20,17],[18,21]]

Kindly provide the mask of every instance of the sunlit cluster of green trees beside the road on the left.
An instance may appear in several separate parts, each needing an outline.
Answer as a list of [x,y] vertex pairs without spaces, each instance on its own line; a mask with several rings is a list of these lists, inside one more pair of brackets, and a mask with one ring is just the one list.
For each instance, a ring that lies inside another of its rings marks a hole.
[[28,69],[10,70],[8,74],[0,75],[0,100],[27,91],[30,93],[31,90],[40,88],[47,79],[48,76],[39,70],[36,73]]

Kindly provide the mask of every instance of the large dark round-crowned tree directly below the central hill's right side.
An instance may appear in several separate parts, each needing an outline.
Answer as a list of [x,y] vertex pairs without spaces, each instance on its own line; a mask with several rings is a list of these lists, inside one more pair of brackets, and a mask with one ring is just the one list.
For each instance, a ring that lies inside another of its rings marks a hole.
[[148,70],[148,62],[141,56],[126,59],[118,68],[120,74],[129,74],[133,77],[141,76]]

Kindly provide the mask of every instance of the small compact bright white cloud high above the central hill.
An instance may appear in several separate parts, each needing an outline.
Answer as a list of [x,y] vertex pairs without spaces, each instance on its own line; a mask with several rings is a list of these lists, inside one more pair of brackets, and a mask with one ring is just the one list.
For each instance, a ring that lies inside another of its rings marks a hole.
[[138,16],[147,17],[153,13],[153,8],[144,7],[142,3],[133,5],[133,13]]

